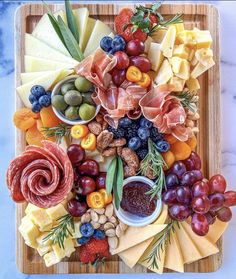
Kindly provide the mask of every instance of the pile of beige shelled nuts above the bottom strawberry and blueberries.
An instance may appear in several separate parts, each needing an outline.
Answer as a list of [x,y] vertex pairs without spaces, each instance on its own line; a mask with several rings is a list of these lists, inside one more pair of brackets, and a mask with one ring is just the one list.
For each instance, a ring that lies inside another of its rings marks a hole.
[[110,249],[117,248],[119,238],[124,234],[128,227],[115,216],[112,203],[108,204],[105,208],[88,209],[81,217],[81,223],[89,222],[94,229],[100,229],[105,232]]

